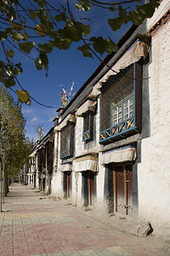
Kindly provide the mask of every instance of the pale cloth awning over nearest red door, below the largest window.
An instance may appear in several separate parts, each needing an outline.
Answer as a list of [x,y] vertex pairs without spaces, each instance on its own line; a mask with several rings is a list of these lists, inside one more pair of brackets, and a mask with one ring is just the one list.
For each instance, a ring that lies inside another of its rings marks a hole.
[[128,145],[121,148],[114,148],[102,152],[100,158],[100,165],[110,164],[112,162],[121,163],[126,161],[133,161],[136,159],[136,148],[134,145]]

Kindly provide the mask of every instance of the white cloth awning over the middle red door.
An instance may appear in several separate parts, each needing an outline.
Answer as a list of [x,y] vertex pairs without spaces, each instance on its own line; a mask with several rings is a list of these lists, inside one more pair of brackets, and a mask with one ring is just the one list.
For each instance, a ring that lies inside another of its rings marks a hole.
[[74,172],[92,171],[98,172],[98,157],[96,154],[88,154],[79,157],[75,160],[73,169]]

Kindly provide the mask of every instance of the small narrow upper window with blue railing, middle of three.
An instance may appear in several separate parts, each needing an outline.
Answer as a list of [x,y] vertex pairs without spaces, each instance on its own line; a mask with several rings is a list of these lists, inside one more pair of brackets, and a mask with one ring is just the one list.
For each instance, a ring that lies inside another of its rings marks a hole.
[[82,142],[93,140],[94,134],[94,113],[91,111],[83,115]]

